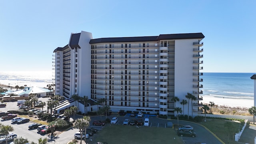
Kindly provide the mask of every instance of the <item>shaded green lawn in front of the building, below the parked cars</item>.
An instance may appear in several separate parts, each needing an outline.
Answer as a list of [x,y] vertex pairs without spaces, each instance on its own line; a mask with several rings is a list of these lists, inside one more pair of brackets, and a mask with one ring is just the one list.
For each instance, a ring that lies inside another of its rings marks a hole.
[[93,138],[108,144],[183,144],[172,128],[114,125],[105,126]]

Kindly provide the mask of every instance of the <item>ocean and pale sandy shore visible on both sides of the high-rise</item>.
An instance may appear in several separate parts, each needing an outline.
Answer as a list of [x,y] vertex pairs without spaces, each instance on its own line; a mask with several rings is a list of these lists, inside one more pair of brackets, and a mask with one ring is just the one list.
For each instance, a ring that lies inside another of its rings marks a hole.
[[[204,72],[203,103],[250,107],[254,101],[254,73],[211,73]],[[10,86],[46,87],[52,84],[52,71],[0,72],[0,84]]]

